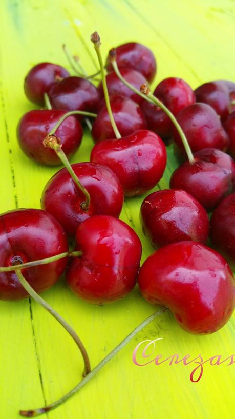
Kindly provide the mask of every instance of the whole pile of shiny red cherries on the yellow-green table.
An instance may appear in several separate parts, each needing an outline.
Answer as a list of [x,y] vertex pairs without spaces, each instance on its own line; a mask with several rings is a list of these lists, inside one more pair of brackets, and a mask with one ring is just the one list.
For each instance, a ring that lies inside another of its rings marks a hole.
[[[66,271],[70,288],[87,302],[116,301],[138,283],[143,297],[168,307],[185,330],[215,332],[235,306],[231,269],[205,246],[210,224],[212,244],[235,260],[235,83],[214,81],[193,91],[183,79],[170,77],[151,94],[153,53],[138,43],[123,44],[102,67],[97,35],[92,42],[101,65],[98,87],[90,80],[99,72],[71,76],[51,63],[36,65],[25,78],[26,96],[48,109],[20,119],[19,146],[41,165],[59,165],[62,159],[66,167],[45,186],[42,210],[0,216],[0,298],[28,295],[19,268],[37,292]],[[70,60],[79,73],[76,57]],[[92,119],[90,162],[70,166],[82,125]],[[143,231],[158,250],[140,268],[140,240],[118,217],[123,196],[144,194],[158,184],[169,142],[183,163],[170,178],[171,189],[143,200]],[[213,211],[210,223],[207,211]],[[68,237],[76,239],[74,253]],[[44,262],[24,265],[38,260]]]

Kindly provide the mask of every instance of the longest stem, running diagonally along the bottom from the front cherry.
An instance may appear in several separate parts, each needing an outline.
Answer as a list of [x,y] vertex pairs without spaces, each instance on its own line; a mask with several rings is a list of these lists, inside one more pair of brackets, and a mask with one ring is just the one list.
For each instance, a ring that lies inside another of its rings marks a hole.
[[56,407],[64,403],[66,400],[68,400],[68,398],[73,396],[78,390],[80,390],[85,384],[87,384],[102,367],[104,367],[109,361],[111,361],[112,358],[132,340],[132,338],[137,333],[139,333],[145,326],[147,326],[156,317],[158,317],[160,314],[162,314],[163,312],[167,310],[168,310],[167,308],[163,307],[162,309],[151,314],[149,317],[145,318],[145,320],[141,322],[139,326],[137,326],[129,335],[127,335],[123,339],[123,341],[121,341],[108,355],[106,355],[105,358],[103,358],[103,360],[93,370],[91,370],[91,372],[88,375],[86,375],[86,377],[84,377],[82,381],[80,381],[72,390],[70,390],[63,397],[59,398],[59,400],[57,400],[54,403],[51,403],[48,406],[45,406],[39,409],[20,410],[19,414],[25,417],[34,417],[34,416],[39,416],[40,414],[46,413],[49,410],[56,409]]

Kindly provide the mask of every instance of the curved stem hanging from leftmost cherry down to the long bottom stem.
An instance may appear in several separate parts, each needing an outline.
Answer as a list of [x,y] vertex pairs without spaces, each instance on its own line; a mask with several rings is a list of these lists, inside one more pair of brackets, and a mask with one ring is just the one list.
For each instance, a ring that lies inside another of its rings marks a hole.
[[28,281],[26,281],[25,277],[22,274],[21,269],[18,266],[17,267],[15,266],[15,273],[17,275],[17,278],[18,278],[20,284],[25,288],[25,290],[28,292],[28,294],[38,304],[40,304],[42,307],[44,307],[57,320],[57,322],[59,322],[61,324],[61,326],[67,330],[67,332],[73,338],[74,342],[76,343],[76,345],[78,346],[78,348],[80,349],[80,352],[82,354],[83,361],[84,361],[83,376],[86,376],[91,371],[90,360],[89,360],[88,353],[87,353],[83,343],[81,342],[80,338],[76,334],[76,332],[65,321],[65,319],[60,316],[60,314],[58,314],[43,298],[41,298],[40,295],[38,295],[36,293],[36,291],[34,291],[34,289],[31,287],[31,285],[28,283]]

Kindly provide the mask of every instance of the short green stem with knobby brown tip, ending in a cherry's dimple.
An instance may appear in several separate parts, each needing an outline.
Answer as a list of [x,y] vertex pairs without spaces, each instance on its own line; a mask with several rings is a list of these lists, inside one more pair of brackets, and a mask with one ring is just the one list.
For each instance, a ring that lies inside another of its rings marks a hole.
[[61,148],[60,139],[56,135],[48,134],[47,137],[44,139],[43,143],[44,143],[45,147],[52,148],[56,152],[57,156],[60,158],[63,165],[66,167],[66,169],[70,173],[74,183],[77,185],[77,187],[83,193],[83,195],[86,197],[86,201],[82,202],[80,204],[80,206],[84,211],[88,211],[90,203],[91,203],[90,193],[88,192],[88,190],[86,188],[84,188],[84,186],[82,186],[81,182],[79,181],[76,173],[74,172],[74,170],[73,170],[73,168],[72,168],[72,166],[71,166],[71,164],[70,164],[70,162],[67,158],[67,155],[63,152],[63,150]]

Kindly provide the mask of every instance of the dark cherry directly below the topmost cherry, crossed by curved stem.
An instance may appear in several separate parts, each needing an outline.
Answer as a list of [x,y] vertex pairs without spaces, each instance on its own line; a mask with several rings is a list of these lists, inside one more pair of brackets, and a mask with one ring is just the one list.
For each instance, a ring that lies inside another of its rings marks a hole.
[[[120,73],[127,82],[131,83],[138,90],[140,90],[140,86],[142,84],[147,84],[146,78],[143,76],[143,74],[136,70],[131,68],[123,68],[120,70]],[[141,96],[129,89],[129,87],[125,86],[114,71],[106,75],[106,83],[110,95],[120,94],[124,97],[132,99],[132,101],[138,104],[144,100]],[[98,91],[100,93],[100,97],[103,97],[102,82],[99,83]]]

